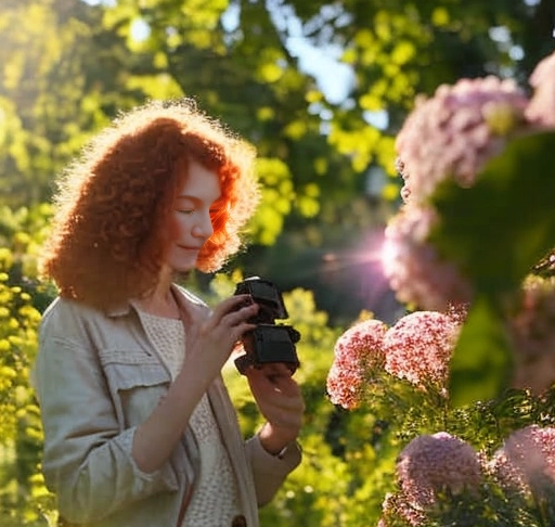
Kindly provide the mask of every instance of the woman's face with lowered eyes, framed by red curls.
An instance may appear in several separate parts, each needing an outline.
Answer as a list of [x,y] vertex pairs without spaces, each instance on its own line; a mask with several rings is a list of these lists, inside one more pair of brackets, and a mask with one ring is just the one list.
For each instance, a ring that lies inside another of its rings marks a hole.
[[211,236],[211,214],[221,195],[218,175],[196,162],[189,165],[189,176],[178,190],[170,217],[172,240],[166,264],[173,271],[194,269],[198,252]]

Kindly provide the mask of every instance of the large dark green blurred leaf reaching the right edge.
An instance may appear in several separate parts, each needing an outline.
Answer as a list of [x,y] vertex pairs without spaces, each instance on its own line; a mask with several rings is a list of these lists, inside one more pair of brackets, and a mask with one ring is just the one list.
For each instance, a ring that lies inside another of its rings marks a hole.
[[553,132],[516,139],[472,188],[450,181],[433,196],[441,221],[430,241],[479,294],[515,290],[555,246],[554,151]]

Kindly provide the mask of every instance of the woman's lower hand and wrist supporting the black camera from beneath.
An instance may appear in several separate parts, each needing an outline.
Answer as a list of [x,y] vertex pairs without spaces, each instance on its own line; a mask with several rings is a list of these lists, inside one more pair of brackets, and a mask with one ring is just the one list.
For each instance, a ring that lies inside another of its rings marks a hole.
[[267,423],[259,432],[262,447],[278,454],[295,441],[302,426],[305,401],[300,387],[285,364],[248,368],[245,372],[260,413]]

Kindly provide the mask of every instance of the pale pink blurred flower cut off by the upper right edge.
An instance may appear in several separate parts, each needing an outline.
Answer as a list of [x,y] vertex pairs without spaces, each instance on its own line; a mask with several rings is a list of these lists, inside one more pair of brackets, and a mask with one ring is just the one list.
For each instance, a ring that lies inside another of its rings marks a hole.
[[529,79],[533,94],[526,117],[540,127],[555,127],[555,52],[540,61]]

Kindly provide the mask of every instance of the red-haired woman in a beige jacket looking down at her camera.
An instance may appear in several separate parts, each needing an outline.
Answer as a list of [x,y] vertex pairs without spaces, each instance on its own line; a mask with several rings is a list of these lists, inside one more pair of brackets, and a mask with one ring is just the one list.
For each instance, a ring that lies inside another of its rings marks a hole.
[[300,462],[304,401],[281,364],[249,369],[266,419],[244,441],[220,371],[258,310],[176,285],[241,247],[254,152],[191,102],[118,117],[65,172],[41,268],[60,291],[36,364],[43,473],[65,522],[258,526]]

